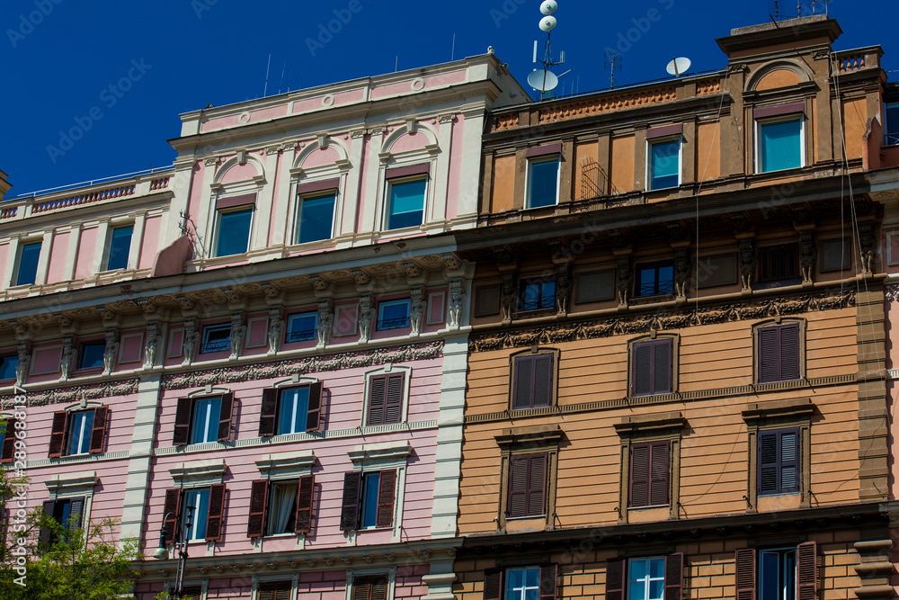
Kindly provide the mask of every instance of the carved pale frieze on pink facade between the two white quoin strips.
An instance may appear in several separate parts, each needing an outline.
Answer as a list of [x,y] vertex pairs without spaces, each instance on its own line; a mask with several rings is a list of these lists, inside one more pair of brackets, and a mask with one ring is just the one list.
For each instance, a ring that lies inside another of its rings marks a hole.
[[[187,388],[200,388],[208,384],[227,384],[287,377],[295,373],[340,371],[342,369],[377,366],[387,363],[421,361],[439,358],[442,355],[443,342],[435,341],[426,344],[375,348],[358,352],[307,356],[271,363],[244,364],[233,367],[220,367],[218,369],[172,373],[163,376],[161,387],[163,390],[185,390]],[[89,398],[96,398],[96,396]]]

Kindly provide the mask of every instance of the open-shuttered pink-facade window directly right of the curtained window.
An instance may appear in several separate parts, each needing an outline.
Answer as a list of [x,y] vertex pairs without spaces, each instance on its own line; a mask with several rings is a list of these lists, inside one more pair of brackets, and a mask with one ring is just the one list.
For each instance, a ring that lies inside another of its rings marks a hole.
[[345,473],[341,529],[392,527],[395,495],[396,470]]

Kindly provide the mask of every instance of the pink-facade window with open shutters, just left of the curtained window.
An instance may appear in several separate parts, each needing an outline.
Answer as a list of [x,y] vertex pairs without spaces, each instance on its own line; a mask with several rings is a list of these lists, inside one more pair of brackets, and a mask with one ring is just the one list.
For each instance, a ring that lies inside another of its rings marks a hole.
[[225,486],[170,488],[165,490],[165,541],[174,542],[176,534],[188,540],[221,539],[225,512]]

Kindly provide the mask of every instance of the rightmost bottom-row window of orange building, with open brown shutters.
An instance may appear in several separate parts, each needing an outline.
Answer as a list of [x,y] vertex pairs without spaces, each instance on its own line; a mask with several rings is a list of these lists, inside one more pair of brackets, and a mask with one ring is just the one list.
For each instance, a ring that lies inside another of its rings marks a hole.
[[[817,544],[736,551],[737,600],[806,600],[817,597]],[[758,565],[756,565],[758,556]],[[758,581],[758,584],[756,584]]]

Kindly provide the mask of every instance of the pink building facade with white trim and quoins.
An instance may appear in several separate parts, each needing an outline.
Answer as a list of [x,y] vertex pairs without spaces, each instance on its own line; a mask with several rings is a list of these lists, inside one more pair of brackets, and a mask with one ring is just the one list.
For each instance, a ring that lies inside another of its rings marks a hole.
[[480,56],[208,108],[170,169],[4,201],[0,417],[24,397],[31,506],[138,538],[141,599],[174,586],[164,527],[189,597],[452,597],[452,231],[486,112],[526,99]]

